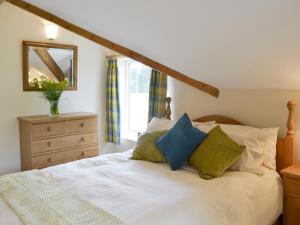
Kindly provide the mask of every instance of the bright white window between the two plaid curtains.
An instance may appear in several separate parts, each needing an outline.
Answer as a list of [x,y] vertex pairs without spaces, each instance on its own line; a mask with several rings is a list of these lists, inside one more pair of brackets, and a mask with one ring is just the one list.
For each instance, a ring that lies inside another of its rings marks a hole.
[[121,138],[136,140],[148,122],[150,68],[134,60],[118,60]]

